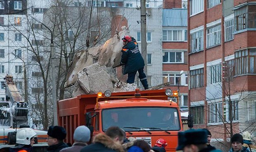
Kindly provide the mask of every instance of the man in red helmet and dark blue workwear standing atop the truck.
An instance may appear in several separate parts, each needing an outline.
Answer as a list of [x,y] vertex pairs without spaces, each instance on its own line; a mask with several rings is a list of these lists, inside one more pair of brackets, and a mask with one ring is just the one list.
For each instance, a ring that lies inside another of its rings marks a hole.
[[128,74],[127,83],[134,83],[135,75],[139,72],[140,82],[144,89],[148,89],[147,76],[144,73],[144,60],[140,54],[139,46],[134,38],[126,35],[123,37],[121,65],[124,65],[123,74]]

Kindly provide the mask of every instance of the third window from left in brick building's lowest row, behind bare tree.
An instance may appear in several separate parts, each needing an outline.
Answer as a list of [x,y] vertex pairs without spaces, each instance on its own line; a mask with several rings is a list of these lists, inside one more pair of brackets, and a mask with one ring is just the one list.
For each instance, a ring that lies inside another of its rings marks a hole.
[[[238,101],[235,100],[235,101],[228,101],[228,102],[230,102],[230,104],[232,106],[232,110],[230,110],[229,103],[226,103],[226,120],[227,121],[239,120],[239,117],[238,117]],[[232,111],[232,113],[230,113],[231,111]],[[231,115],[231,117],[230,117],[230,115]]]

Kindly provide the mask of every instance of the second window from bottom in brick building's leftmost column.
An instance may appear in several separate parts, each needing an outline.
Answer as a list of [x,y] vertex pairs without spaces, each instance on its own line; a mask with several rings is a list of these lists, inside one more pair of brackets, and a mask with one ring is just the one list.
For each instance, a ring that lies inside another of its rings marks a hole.
[[190,71],[190,88],[200,88],[204,86],[204,68]]

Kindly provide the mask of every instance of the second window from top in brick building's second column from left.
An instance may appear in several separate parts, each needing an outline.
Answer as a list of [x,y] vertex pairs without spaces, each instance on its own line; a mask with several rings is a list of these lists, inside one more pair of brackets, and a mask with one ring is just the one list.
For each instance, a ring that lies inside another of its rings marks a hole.
[[220,25],[213,26],[206,30],[207,37],[206,37],[206,47],[216,46],[220,44],[221,41],[221,28]]

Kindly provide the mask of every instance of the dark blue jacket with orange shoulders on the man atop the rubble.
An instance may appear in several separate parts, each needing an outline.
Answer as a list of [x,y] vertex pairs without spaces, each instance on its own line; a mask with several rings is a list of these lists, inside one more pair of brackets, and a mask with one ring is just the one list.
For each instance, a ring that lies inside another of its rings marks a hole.
[[122,53],[120,64],[125,65],[123,74],[137,71],[145,66],[144,60],[139,51],[139,46],[135,39],[123,46]]

